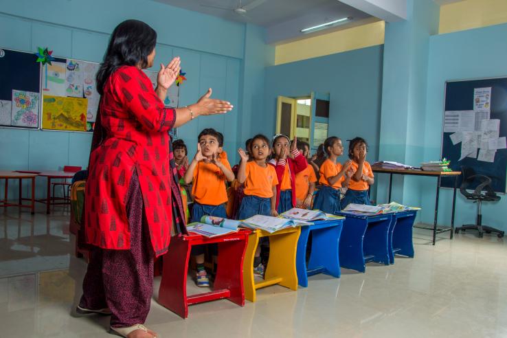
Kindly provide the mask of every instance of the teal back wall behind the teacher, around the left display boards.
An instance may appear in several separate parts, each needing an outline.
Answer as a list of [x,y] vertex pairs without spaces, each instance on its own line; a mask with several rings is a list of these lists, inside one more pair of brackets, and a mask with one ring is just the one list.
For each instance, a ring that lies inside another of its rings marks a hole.
[[[49,47],[55,56],[100,62],[109,34],[125,19],[145,21],[157,31],[155,65],[181,56],[188,80],[181,87],[180,106],[195,102],[208,87],[213,97],[234,104],[227,115],[199,117],[179,128],[189,156],[194,155],[196,137],[203,128],[223,132],[224,148],[234,164],[236,149],[243,142],[243,119],[239,117],[251,111],[251,105],[243,109],[243,102],[258,95],[258,86],[251,83],[264,83],[264,66],[274,60],[273,47],[260,43],[264,41],[262,28],[150,0],[0,0],[0,47],[26,52]],[[245,58],[247,50],[255,53]],[[248,125],[245,133],[249,133]],[[87,133],[0,128],[0,170],[58,170],[67,164],[86,167],[90,142]],[[10,190],[11,197],[14,190]],[[37,193],[45,194],[42,179]]]

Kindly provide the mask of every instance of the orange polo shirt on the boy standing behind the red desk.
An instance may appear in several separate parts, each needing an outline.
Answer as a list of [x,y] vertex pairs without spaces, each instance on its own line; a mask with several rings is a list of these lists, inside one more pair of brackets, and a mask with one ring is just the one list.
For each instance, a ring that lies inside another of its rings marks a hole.
[[[218,159],[231,170],[227,159]],[[215,164],[199,161],[194,170],[194,182],[192,184],[192,196],[197,203],[207,205],[221,205],[227,202],[227,191],[225,190],[227,177]]]

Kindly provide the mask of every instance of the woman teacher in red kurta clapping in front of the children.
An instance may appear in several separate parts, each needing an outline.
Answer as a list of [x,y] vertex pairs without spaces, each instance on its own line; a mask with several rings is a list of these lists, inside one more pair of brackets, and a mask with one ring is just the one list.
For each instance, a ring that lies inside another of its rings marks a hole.
[[185,233],[183,205],[168,131],[199,115],[226,113],[229,102],[210,98],[172,109],[163,100],[180,60],[160,65],[157,88],[142,69],[152,67],[157,33],[127,20],[117,25],[97,74],[100,106],[91,145],[84,228],[93,245],[79,315],[111,315],[111,333],[156,337],[143,324],[153,293],[153,258],[172,234]]

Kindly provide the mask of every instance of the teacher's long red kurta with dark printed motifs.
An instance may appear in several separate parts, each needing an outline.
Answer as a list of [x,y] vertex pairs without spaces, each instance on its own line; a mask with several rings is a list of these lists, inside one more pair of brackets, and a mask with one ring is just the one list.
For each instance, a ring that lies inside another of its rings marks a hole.
[[164,254],[172,217],[183,223],[179,215],[172,214],[174,207],[182,214],[181,199],[175,199],[176,205],[171,199],[177,183],[172,176],[176,172],[170,167],[168,131],[176,113],[164,107],[142,70],[124,66],[104,85],[100,118],[105,135],[90,156],[84,221],[87,240],[104,249],[130,248],[126,201],[136,170],[151,243],[157,256]]

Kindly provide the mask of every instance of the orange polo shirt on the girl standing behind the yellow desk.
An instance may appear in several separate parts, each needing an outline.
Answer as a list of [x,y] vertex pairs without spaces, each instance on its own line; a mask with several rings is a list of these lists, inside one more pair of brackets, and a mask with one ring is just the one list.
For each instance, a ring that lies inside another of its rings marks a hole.
[[273,197],[273,187],[278,184],[275,167],[266,164],[266,168],[262,168],[256,164],[256,161],[249,161],[245,172],[247,174],[245,190],[243,190],[245,195]]

